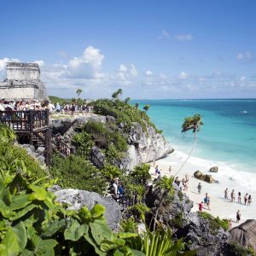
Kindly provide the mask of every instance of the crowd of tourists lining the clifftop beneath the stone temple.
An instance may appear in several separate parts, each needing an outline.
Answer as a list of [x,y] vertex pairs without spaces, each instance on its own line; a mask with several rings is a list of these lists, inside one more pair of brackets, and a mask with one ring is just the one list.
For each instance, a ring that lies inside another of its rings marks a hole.
[[49,109],[49,113],[62,114],[78,114],[90,113],[93,107],[86,104],[79,105],[75,102],[61,105],[60,103],[52,103],[50,101],[39,102],[38,100],[21,100],[21,101],[7,101],[0,99],[0,111],[27,111],[27,110],[44,110]]

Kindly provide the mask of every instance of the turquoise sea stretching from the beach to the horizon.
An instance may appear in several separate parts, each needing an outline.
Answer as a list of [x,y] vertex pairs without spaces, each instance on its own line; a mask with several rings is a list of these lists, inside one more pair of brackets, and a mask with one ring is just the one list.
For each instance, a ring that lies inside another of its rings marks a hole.
[[137,100],[172,147],[189,154],[193,135],[181,133],[183,119],[201,113],[203,127],[193,156],[256,173],[256,99]]

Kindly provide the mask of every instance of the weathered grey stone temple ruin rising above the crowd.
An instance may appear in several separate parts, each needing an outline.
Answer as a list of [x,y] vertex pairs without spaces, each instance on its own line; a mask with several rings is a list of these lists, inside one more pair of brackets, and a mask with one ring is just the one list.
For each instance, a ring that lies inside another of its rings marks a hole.
[[6,79],[0,82],[1,99],[43,101],[48,98],[37,63],[8,62],[6,73]]

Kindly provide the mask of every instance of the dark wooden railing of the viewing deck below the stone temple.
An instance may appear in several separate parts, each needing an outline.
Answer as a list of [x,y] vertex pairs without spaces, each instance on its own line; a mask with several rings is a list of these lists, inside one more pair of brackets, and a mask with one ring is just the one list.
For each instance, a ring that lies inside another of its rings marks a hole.
[[14,131],[32,132],[49,125],[49,109],[28,111],[0,111],[0,123]]

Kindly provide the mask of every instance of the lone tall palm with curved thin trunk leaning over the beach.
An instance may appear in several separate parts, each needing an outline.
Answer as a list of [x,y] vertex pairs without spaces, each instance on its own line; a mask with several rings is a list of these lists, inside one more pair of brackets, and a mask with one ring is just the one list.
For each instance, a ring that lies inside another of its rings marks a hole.
[[[202,118],[200,113],[196,113],[193,116],[189,116],[184,119],[183,125],[182,125],[182,132],[186,131],[193,131],[194,133],[194,143],[191,148],[191,151],[187,157],[187,159],[183,162],[182,166],[180,166],[179,170],[177,171],[180,172],[183,169],[183,166],[186,164],[186,162],[189,160],[189,157],[191,156],[194,148],[195,148],[195,143],[196,143],[196,134],[198,131],[201,130],[201,126],[203,125],[202,123]],[[177,176],[177,173],[175,176]]]

